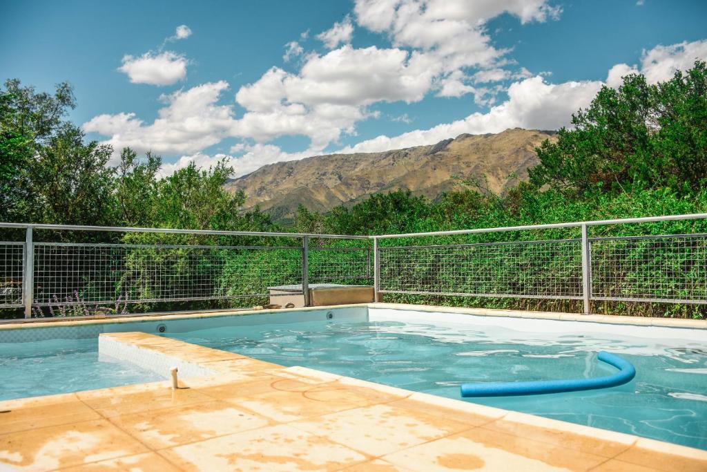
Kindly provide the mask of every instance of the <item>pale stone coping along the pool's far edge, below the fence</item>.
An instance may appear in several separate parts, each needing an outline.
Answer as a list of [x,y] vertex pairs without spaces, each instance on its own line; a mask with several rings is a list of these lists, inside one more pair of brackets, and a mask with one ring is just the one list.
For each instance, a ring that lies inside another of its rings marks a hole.
[[689,328],[707,330],[707,319],[693,320],[687,318],[660,318],[655,316],[620,316],[620,315],[584,315],[578,313],[563,313],[554,311],[523,311],[506,309],[464,308],[452,306],[414,305],[395,303],[365,303],[343,304],[330,306],[308,306],[297,309],[231,309],[216,311],[187,311],[178,313],[146,313],[129,316],[104,316],[98,318],[82,319],[73,318],[62,320],[46,318],[31,321],[20,319],[17,321],[0,321],[0,330],[45,328],[47,326],[81,326],[105,323],[134,323],[136,321],[159,321],[180,318],[218,318],[223,316],[247,316],[264,313],[288,313],[293,311],[320,311],[327,309],[341,309],[351,307],[366,307],[375,309],[394,309],[426,312],[461,313],[475,316],[506,316],[508,318],[536,318],[556,321],[584,321],[588,323],[609,323],[627,326],[660,326],[663,328]]

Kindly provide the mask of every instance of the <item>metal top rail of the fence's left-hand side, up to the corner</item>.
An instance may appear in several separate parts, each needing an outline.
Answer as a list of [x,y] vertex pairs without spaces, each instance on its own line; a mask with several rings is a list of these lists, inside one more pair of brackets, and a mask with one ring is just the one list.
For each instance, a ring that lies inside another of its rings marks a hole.
[[283,236],[286,238],[332,238],[332,239],[368,239],[370,236],[346,236],[344,234],[309,234],[309,233],[268,233],[257,231],[217,231],[214,229],[173,229],[173,228],[131,228],[120,226],[78,226],[71,224],[33,224],[33,223],[2,223],[0,228],[15,229],[49,229],[54,231],[112,231],[118,233],[170,233],[170,234],[204,234],[214,236]]

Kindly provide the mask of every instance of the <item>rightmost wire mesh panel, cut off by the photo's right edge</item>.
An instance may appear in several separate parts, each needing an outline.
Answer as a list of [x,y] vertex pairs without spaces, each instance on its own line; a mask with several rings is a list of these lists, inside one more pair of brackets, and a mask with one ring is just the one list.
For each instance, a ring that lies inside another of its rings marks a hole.
[[707,234],[590,238],[596,300],[707,303]]

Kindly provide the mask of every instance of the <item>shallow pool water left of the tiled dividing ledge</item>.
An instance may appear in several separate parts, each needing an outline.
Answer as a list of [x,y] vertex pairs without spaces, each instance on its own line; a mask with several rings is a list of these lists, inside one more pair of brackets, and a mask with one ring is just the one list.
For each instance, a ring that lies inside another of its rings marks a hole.
[[98,356],[98,338],[0,343],[0,400],[164,380]]

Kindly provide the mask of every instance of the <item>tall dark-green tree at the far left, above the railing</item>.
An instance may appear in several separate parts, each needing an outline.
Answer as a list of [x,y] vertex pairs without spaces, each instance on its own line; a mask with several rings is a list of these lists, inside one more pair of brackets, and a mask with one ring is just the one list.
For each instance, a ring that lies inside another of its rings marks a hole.
[[64,117],[76,106],[66,82],[37,93],[18,79],[0,90],[0,217],[4,221],[104,224],[112,221],[112,149]]

